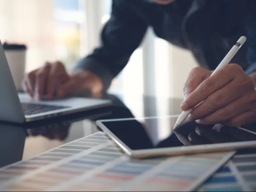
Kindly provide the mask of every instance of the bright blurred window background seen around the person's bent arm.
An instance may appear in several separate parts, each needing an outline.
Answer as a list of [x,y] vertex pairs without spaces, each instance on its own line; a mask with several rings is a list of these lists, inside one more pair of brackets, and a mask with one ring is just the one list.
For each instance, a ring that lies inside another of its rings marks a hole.
[[[75,63],[100,44],[111,0],[0,0],[2,43],[28,46],[26,72],[45,61]],[[109,92],[183,98],[183,85],[196,67],[191,54],[157,38],[148,28],[143,43],[113,80]]]

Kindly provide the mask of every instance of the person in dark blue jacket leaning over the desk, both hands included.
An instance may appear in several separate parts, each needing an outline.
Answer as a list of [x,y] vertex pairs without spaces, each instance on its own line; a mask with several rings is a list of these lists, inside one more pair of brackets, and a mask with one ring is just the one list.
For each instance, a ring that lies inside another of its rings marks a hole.
[[[39,100],[45,88],[52,99],[57,83],[59,97],[107,90],[151,26],[157,36],[190,50],[201,66],[192,69],[184,86],[183,111],[205,99],[190,119],[235,127],[254,123],[255,5],[255,0],[113,0],[100,47],[80,60],[71,74],[61,62],[46,62],[24,77],[24,90]],[[240,36],[247,41],[231,60],[237,64],[209,77]]]

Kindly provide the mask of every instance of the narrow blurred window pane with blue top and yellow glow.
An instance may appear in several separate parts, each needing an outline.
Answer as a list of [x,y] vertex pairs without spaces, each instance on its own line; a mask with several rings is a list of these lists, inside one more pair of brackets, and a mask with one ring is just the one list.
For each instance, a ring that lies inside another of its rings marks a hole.
[[[86,22],[78,0],[55,0],[56,57],[70,71],[80,58],[80,25]],[[86,33],[86,31],[84,31]]]

